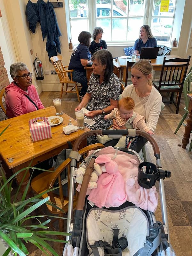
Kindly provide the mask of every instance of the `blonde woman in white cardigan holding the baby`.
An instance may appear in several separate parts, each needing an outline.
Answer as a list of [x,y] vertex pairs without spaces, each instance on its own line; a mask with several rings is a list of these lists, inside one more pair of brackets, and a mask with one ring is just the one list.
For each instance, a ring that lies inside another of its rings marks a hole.
[[[134,111],[145,117],[146,124],[152,132],[156,129],[162,106],[161,94],[152,85],[153,73],[153,67],[148,60],[135,62],[131,70],[132,84],[126,86],[121,94],[123,98],[131,97],[134,100]],[[124,125],[119,126],[115,119],[113,119],[113,128],[126,129]],[[132,149],[139,152],[146,142],[146,139],[138,137],[135,145],[132,143]],[[111,145],[110,143],[105,143],[105,146]]]

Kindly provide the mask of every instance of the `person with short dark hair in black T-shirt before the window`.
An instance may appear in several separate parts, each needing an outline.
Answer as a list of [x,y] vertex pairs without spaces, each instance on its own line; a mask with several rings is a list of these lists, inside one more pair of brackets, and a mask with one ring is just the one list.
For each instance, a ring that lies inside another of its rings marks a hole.
[[102,36],[103,36],[103,29],[100,27],[95,27],[93,29],[93,34],[92,34],[93,41],[89,46],[89,51],[91,53],[91,56],[93,55],[94,52],[97,52],[102,49],[107,49],[107,44],[105,40],[101,39]]

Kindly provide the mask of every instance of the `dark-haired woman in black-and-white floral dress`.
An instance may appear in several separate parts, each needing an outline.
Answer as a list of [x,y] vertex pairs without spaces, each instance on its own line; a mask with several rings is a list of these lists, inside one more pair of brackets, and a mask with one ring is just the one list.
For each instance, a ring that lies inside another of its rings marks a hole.
[[[87,118],[93,119],[92,126],[85,124],[91,130],[107,129],[112,120],[105,120],[104,116],[117,107],[121,90],[118,77],[113,74],[113,57],[108,50],[100,50],[92,56],[93,73],[89,80],[87,93],[75,111],[87,105]],[[96,136],[88,137],[88,145],[98,142]]]

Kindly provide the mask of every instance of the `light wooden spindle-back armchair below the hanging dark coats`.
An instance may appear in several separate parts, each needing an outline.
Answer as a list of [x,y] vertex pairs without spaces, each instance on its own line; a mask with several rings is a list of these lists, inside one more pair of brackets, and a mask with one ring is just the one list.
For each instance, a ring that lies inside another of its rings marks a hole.
[[[62,98],[63,92],[65,94],[67,93],[76,93],[78,101],[80,102],[79,98],[79,90],[78,87],[81,88],[81,86],[78,86],[75,81],[73,81],[73,75],[72,72],[74,71],[73,69],[68,70],[68,66],[64,66],[62,63],[62,56],[53,56],[50,58],[55,71],[57,72],[57,75],[59,76],[60,83],[62,84],[61,86],[61,93],[60,93],[60,98]],[[66,70],[67,68],[67,70]],[[70,72],[71,79],[68,77],[68,73]],[[66,84],[66,89],[63,91],[64,84]],[[68,87],[72,87],[71,90],[68,90]],[[75,91],[73,91],[75,89]]]

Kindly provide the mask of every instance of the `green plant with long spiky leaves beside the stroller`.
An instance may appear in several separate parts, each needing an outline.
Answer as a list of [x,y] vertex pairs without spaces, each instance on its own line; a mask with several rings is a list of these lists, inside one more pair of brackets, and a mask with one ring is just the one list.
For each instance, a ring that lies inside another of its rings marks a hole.
[[[0,136],[3,132],[0,133]],[[69,236],[70,234],[49,230],[47,224],[50,222],[50,219],[44,221],[44,216],[42,215],[31,215],[32,212],[34,212],[38,207],[41,207],[43,204],[52,204],[49,202],[49,197],[42,199],[41,196],[44,193],[52,191],[56,188],[51,188],[42,194],[27,199],[26,195],[30,184],[29,180],[28,185],[23,195],[21,196],[21,199],[18,200],[18,194],[22,184],[21,181],[20,186],[16,189],[15,195],[12,195],[13,179],[15,179],[15,176],[18,173],[23,172],[29,168],[31,167],[29,166],[27,168],[21,169],[20,171],[14,173],[9,179],[6,179],[2,168],[0,170],[0,238],[3,239],[4,242],[8,245],[8,248],[4,252],[3,256],[8,255],[10,252],[14,253],[14,255],[20,256],[29,254],[25,243],[36,245],[36,247],[38,247],[46,255],[48,254],[45,251],[45,248],[51,252],[52,255],[59,256],[58,253],[55,252],[55,250],[53,250],[46,241],[65,243],[66,241],[64,240],[53,239],[50,238],[50,236]],[[41,170],[39,168],[35,169]]]

